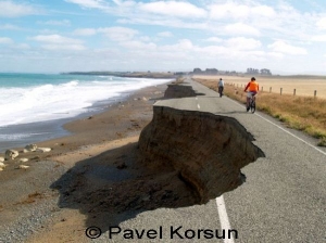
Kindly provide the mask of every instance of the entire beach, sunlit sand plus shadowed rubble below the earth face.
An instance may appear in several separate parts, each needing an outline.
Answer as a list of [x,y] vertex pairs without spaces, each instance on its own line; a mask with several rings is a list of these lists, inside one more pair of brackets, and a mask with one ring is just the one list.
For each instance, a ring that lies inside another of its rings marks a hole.
[[[172,193],[171,187],[180,183],[173,169],[151,171],[137,165],[139,133],[165,89],[166,85],[145,88],[101,114],[64,125],[70,136],[37,143],[51,148],[49,153],[21,153],[4,162],[8,166],[0,171],[0,192],[5,195],[0,199],[0,242],[87,242],[87,226],[108,226],[108,217],[110,223],[134,217],[124,212],[139,209],[133,204],[136,195],[130,193],[136,189],[138,194],[155,194],[158,201],[143,199],[141,207],[147,209],[158,204],[174,207],[193,203],[183,184],[178,193]],[[29,161],[20,163],[22,157]],[[29,167],[16,169],[22,164]]]

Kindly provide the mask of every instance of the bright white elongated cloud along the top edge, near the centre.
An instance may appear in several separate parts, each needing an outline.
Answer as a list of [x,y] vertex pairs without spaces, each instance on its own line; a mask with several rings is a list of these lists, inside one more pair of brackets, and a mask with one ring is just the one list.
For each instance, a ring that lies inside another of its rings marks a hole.
[[139,3],[139,10],[152,13],[176,17],[205,17],[206,11],[189,2],[179,1],[156,1],[149,3]]

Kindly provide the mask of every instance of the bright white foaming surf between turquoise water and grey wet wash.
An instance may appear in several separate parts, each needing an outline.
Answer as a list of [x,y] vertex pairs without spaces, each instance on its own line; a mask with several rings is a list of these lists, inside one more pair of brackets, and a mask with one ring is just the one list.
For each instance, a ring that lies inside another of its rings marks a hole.
[[167,81],[93,77],[93,80],[87,81],[75,79],[64,84],[0,88],[0,127],[73,117],[89,111],[87,107],[97,101]]

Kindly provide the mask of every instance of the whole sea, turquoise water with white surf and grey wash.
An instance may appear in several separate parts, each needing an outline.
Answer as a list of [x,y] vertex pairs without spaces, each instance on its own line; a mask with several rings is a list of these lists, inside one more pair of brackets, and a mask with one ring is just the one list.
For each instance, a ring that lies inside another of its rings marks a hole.
[[62,125],[171,79],[0,73],[0,152],[67,135]]

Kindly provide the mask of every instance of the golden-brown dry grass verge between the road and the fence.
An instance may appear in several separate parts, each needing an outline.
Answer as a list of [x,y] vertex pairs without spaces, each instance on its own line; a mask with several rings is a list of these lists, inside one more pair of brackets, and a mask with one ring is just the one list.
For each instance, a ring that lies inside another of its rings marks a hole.
[[[216,77],[215,77],[216,78]],[[201,84],[217,91],[217,78],[199,79]],[[326,86],[326,85],[325,85]],[[243,87],[225,86],[225,94],[231,99],[246,103]],[[299,97],[262,91],[256,98],[256,108],[262,111],[288,127],[301,130],[319,139],[318,145],[326,146],[326,100],[313,97]]]

